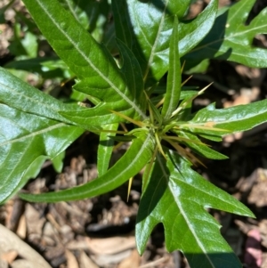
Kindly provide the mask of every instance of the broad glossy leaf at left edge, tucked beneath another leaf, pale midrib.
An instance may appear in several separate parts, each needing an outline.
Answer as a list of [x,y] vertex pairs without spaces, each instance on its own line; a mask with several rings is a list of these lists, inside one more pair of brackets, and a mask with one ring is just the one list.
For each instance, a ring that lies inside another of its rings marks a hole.
[[[23,176],[28,173],[28,169],[33,168],[37,159],[56,157],[84,130],[15,110],[4,104],[0,106],[3,126],[0,135],[0,202],[3,202],[20,189]],[[39,164],[37,168],[40,168]],[[31,169],[30,174],[33,173]]]

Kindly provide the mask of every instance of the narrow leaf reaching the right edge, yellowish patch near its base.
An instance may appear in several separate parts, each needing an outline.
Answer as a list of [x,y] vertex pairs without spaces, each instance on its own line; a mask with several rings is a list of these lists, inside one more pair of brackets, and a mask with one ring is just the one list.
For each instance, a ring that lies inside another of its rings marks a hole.
[[[222,136],[246,131],[266,121],[267,100],[227,109],[215,109],[213,103],[199,110],[187,126],[199,134]],[[220,131],[220,129],[224,129],[224,131]]]

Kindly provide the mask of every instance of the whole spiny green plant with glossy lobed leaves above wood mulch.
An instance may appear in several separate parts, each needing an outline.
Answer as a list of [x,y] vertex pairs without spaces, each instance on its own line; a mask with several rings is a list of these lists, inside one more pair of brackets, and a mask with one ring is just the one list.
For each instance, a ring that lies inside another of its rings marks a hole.
[[[115,189],[145,167],[136,223],[138,251],[142,254],[150,232],[163,223],[166,248],[181,250],[190,267],[241,267],[206,208],[254,215],[191,169],[192,163],[201,162],[184,145],[202,157],[227,158],[203,141],[220,142],[225,134],[266,122],[267,100],[223,110],[211,104],[192,113],[192,101],[206,88],[195,91],[183,85],[180,59],[194,66],[220,56],[266,67],[266,50],[252,47],[252,41],[266,33],[267,9],[245,26],[254,0],[242,0],[218,15],[217,0],[212,0],[193,20],[184,19],[189,0],[116,0],[111,3],[116,43],[109,46],[96,42],[88,25],[80,23],[64,1],[23,2],[77,77],[74,89],[93,107],[60,102],[1,68],[0,200],[19,191],[45,159],[52,158],[55,166],[61,163],[61,153],[89,130],[100,134],[97,179],[66,191],[20,197],[33,202],[91,198]],[[130,124],[130,131],[119,130],[120,124]],[[114,142],[129,141],[125,155],[109,168]]]

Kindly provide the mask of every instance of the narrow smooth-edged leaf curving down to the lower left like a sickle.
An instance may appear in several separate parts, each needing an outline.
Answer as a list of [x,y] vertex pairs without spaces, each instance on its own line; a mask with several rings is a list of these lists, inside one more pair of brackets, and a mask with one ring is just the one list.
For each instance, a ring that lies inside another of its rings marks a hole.
[[64,191],[38,195],[20,194],[20,197],[33,202],[59,202],[92,198],[112,191],[136,175],[147,164],[154,146],[150,134],[139,134],[123,157],[101,177]]

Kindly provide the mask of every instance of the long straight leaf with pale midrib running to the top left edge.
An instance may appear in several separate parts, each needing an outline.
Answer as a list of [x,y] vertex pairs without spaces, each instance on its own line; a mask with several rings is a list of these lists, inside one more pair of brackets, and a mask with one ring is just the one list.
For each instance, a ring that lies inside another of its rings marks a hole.
[[[110,109],[121,108],[120,110],[128,110],[132,116],[136,114],[145,118],[142,108],[127,88],[123,72],[107,49],[99,45],[57,0],[25,0],[24,3],[55,52],[81,81],[86,79],[87,87],[94,89],[92,94],[108,91],[110,97],[112,90],[114,98],[109,98],[107,107],[104,106],[105,103],[101,104],[101,115],[107,116]],[[118,103],[117,99],[122,101]],[[112,102],[115,102],[113,108]],[[97,111],[98,109],[96,113]],[[75,118],[74,115],[72,119]]]

